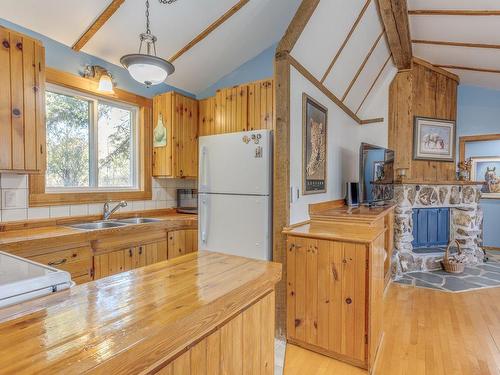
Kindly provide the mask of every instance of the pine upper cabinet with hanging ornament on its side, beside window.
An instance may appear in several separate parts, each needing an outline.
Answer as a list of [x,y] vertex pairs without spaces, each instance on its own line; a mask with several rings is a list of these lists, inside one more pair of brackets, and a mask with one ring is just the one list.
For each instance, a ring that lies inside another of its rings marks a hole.
[[175,92],[153,100],[153,176],[198,176],[198,101]]

